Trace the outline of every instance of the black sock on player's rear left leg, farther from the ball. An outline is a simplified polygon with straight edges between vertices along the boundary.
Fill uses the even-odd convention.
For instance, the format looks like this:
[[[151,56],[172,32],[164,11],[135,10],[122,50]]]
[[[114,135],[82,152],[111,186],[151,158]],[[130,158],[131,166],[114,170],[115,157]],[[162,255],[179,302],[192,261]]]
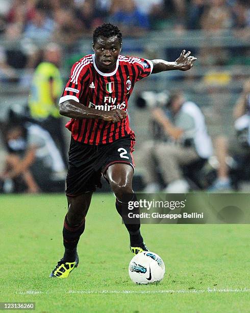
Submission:
[[[66,262],[74,262],[77,255],[77,244],[80,236],[85,229],[85,220],[79,225],[69,226],[67,221],[67,215],[64,219],[63,225],[63,245],[65,248],[65,253],[63,259]]]

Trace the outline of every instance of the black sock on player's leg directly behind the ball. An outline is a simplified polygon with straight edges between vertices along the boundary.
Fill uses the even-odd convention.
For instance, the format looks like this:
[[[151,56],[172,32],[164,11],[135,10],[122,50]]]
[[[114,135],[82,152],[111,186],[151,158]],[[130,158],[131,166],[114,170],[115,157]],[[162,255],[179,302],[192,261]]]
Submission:
[[[132,200],[135,200],[135,196],[133,196]],[[128,218],[128,214],[133,212],[135,214],[139,214],[139,208],[134,208],[133,210],[129,210],[129,204],[127,202],[121,202],[116,198],[115,207],[117,212],[120,214],[129,234],[130,234],[130,244],[132,247],[135,247],[137,244],[143,242],[143,238],[140,233],[140,218],[133,218],[133,224],[131,224],[131,220]]]

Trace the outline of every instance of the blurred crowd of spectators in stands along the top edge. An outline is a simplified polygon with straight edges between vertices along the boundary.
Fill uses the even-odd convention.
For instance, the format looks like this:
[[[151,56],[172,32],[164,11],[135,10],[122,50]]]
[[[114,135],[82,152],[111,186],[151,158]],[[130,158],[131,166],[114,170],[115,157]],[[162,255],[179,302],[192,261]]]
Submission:
[[[1,0],[0,34],[9,39],[57,40],[63,44],[90,36],[104,21],[126,36],[166,28],[247,29],[245,0]]]

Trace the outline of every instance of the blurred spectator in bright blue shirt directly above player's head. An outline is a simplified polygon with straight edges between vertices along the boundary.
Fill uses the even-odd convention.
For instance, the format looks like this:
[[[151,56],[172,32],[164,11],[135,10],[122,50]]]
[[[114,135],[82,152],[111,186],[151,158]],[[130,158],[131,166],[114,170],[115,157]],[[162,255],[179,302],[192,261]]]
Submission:
[[[116,24],[124,36],[140,36],[149,29],[148,16],[139,11],[134,0],[118,2],[110,21]]]

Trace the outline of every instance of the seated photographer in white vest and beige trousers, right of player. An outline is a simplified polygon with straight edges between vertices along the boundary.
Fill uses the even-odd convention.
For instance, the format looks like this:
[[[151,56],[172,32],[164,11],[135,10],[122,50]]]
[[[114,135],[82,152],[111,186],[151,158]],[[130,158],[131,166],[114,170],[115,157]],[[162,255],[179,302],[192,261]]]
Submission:
[[[166,108],[167,111],[160,107],[152,109],[152,117],[161,125],[167,141],[144,146],[144,155],[147,155],[144,158],[145,191],[158,191],[157,163],[167,185],[164,191],[184,193],[189,190],[189,185],[183,178],[182,167],[208,159],[212,154],[212,143],[202,111],[195,103],[186,101],[181,92],[170,95]]]

